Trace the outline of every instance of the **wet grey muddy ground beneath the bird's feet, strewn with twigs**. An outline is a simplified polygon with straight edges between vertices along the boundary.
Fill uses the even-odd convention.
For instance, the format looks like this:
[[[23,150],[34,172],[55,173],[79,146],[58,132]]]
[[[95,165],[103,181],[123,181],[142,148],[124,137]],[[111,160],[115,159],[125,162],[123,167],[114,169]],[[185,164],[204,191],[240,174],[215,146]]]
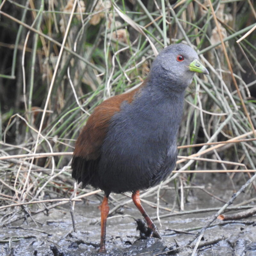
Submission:
[[[247,178],[247,177],[246,177]],[[236,174],[235,186],[238,190],[245,179],[241,174]],[[198,174],[194,181],[198,186],[204,186],[205,189],[221,200],[228,201],[234,193],[232,186],[226,174],[204,175]],[[172,185],[171,185],[172,186]],[[186,191],[186,189],[184,190]],[[164,201],[161,206],[172,208],[174,202],[174,190],[163,190]],[[115,200],[127,200],[127,196],[113,195]],[[239,205],[247,200],[249,203],[245,206],[255,206],[255,191],[250,188],[239,196],[233,205]],[[156,203],[156,195],[144,198],[145,200]],[[205,193],[200,188],[193,188],[187,197],[184,212],[202,210],[207,208],[221,207],[224,205],[215,197]],[[112,204],[112,203],[113,204]],[[141,218],[140,212],[130,203],[125,207],[118,209],[113,217],[107,221],[107,253],[98,254],[100,242],[100,196],[90,196],[83,202],[76,203],[75,219],[77,232],[73,232],[72,221],[69,212],[69,205],[51,209],[48,212],[39,213],[27,221],[19,220],[7,227],[0,228],[0,255],[9,256],[68,256],[68,255],[159,255],[167,250],[172,250],[169,255],[191,255],[193,249],[184,247],[199,228],[212,216],[217,210],[175,215],[161,218],[161,224],[154,220],[155,224],[163,237],[149,238],[141,240],[139,231],[136,230],[135,219]],[[110,209],[117,202],[110,199]],[[156,217],[156,209],[150,207],[145,202],[148,214]],[[241,210],[240,210],[241,211]],[[179,208],[175,207],[173,214],[179,213]],[[227,212],[237,213],[238,211]],[[170,212],[159,210],[159,215]],[[256,226],[255,216],[232,221],[215,220],[212,227],[208,228],[200,242],[197,255],[235,255],[233,247],[236,241],[244,242],[246,256],[256,255]],[[37,226],[36,226],[37,225]],[[10,239],[11,238],[11,239]],[[239,240],[240,239],[240,240]],[[8,242],[7,242],[8,240]],[[176,242],[175,242],[176,241]],[[195,244],[192,243],[192,247]],[[177,247],[181,249],[174,250]],[[161,255],[167,255],[163,253]]]

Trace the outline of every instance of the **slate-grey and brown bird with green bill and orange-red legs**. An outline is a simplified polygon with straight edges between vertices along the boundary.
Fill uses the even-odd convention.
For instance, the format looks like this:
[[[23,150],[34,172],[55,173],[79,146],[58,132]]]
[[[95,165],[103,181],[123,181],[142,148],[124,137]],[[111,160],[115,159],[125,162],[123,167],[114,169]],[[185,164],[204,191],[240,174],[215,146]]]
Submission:
[[[104,100],[80,132],[71,162],[72,177],[82,182],[82,188],[89,184],[104,191],[99,252],[106,252],[108,196],[112,192],[132,192],[152,236],[161,238],[140,203],[140,190],[156,186],[175,168],[184,94],[195,72],[209,75],[192,47],[165,47],[153,60],[144,82],[133,91]]]

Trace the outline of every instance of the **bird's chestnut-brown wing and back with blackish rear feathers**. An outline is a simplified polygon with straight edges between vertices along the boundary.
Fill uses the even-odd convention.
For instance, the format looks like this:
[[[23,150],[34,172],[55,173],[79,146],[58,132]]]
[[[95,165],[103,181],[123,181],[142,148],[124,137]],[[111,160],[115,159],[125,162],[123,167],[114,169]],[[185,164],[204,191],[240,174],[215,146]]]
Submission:
[[[112,116],[120,111],[122,102],[132,102],[134,95],[137,94],[143,84],[132,92],[116,95],[103,101],[88,118],[76,140],[71,163],[72,177],[78,183],[82,181],[83,187],[90,183],[97,172],[100,149],[107,135]]]

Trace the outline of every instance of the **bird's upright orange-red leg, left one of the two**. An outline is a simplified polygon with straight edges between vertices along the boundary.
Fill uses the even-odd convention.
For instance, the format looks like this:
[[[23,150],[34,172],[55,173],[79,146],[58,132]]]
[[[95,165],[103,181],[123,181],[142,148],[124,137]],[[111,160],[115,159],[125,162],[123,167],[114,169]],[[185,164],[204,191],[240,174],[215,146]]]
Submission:
[[[109,212],[108,206],[108,196],[104,196],[102,204],[100,206],[100,213],[101,213],[101,233],[100,233],[100,251],[99,252],[106,252],[106,223],[107,217]]]

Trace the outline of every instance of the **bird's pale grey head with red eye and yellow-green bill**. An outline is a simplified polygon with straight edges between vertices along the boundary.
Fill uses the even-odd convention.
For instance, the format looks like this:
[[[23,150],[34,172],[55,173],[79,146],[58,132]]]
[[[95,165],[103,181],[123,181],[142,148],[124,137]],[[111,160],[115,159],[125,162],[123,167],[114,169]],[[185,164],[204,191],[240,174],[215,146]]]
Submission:
[[[184,90],[192,82],[195,72],[209,75],[198,60],[196,51],[186,44],[172,44],[164,48],[151,68],[151,76],[159,81],[166,80],[177,91]]]

